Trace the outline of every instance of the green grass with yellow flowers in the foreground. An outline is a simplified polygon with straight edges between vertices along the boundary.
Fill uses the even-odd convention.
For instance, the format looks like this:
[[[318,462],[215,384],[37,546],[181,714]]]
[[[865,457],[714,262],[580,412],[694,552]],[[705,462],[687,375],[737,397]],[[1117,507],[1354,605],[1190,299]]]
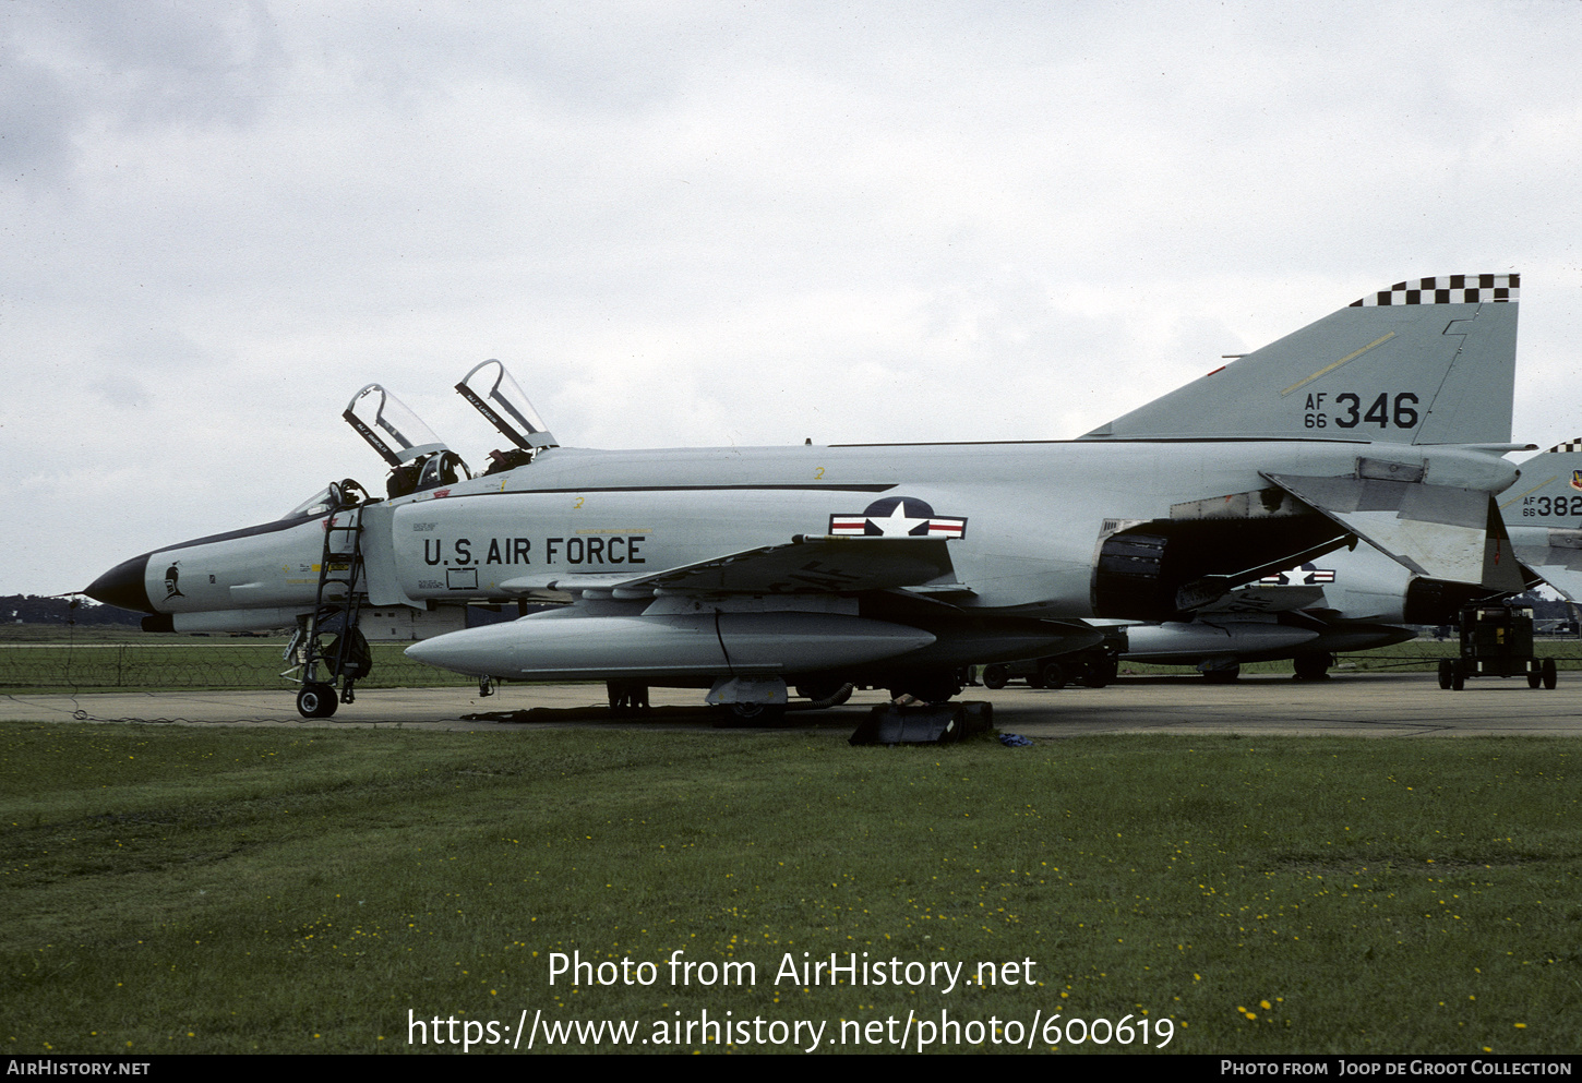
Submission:
[[[1185,1053],[1582,1045],[1576,740],[845,734],[3,723],[0,1045],[400,1051],[408,1010],[539,1009],[824,1048],[941,1010],[1145,1012]],[[677,949],[758,982],[672,987]],[[660,980],[551,985],[552,952]],[[802,952],[1039,985],[777,987]]]

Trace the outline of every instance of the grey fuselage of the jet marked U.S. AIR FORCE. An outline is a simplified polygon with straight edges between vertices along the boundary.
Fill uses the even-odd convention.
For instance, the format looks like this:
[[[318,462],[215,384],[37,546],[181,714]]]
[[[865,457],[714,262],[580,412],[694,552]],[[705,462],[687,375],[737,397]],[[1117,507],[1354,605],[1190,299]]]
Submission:
[[[948,539],[956,579],[970,591],[952,599],[962,609],[1153,620],[1120,612],[1123,599],[1106,606],[1095,571],[1104,538],[1128,523],[1179,522],[1188,504],[1213,520],[1212,503],[1201,501],[1269,490],[1269,474],[1354,477],[1359,462],[1489,492],[1516,477],[1487,451],[1364,441],[551,447],[527,466],[356,514],[372,604],[500,601],[525,587],[658,572],[799,534],[927,534]],[[226,615],[210,618],[215,628],[247,626],[245,613],[256,615],[253,626],[280,626],[282,613],[313,604],[324,519],[160,549],[117,566],[90,593],[169,613],[177,629],[204,626],[202,613]],[[1224,538],[1264,544],[1245,520]],[[1193,560],[1207,564],[1183,564],[1177,577],[1280,557],[1204,557],[1218,545],[1191,542]]]

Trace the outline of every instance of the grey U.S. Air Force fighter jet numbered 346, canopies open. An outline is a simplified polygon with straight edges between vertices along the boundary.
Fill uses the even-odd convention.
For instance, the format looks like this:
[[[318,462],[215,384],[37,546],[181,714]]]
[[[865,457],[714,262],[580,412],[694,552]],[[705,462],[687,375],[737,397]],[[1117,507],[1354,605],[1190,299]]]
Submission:
[[[1183,620],[1359,539],[1427,582],[1519,590],[1493,503],[1512,444],[1467,421],[1511,379],[1473,362],[1514,351],[1516,292],[1455,275],[1370,294],[1079,441],[560,447],[486,362],[457,387],[514,447],[470,477],[370,386],[348,414],[392,466],[386,498],[331,487],[87,593],[176,631],[297,625],[310,716],[365,669],[359,606],[511,599],[566,604],[408,655],[707,688],[750,716],[848,683],[948,700],[963,666],[1098,642],[1084,618]],[[1376,438],[1397,432],[1413,443]]]

